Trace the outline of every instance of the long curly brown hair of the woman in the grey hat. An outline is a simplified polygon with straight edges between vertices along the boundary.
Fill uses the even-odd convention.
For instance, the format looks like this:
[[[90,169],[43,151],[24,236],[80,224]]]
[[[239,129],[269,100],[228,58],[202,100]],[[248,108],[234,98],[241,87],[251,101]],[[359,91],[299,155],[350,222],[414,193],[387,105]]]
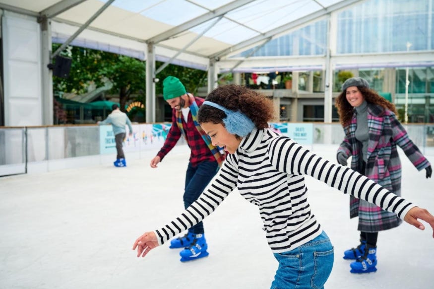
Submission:
[[[378,95],[375,90],[366,87],[357,86],[359,91],[362,93],[365,100],[369,103],[373,103],[381,106],[384,109],[388,109],[392,111],[394,114],[398,114],[396,112],[395,105],[387,101],[384,97]],[[338,109],[339,121],[342,126],[347,126],[351,122],[351,118],[353,117],[354,108],[347,100],[347,90],[341,92],[335,100],[335,106]]]

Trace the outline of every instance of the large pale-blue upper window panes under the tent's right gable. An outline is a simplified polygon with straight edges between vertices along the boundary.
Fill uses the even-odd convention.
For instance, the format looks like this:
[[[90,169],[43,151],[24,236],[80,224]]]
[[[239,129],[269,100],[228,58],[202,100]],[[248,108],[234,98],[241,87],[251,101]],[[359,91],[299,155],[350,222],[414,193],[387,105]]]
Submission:
[[[338,14],[337,54],[433,50],[434,0],[369,0]],[[324,55],[327,22],[271,40],[252,57]],[[254,48],[238,56],[248,56]]]

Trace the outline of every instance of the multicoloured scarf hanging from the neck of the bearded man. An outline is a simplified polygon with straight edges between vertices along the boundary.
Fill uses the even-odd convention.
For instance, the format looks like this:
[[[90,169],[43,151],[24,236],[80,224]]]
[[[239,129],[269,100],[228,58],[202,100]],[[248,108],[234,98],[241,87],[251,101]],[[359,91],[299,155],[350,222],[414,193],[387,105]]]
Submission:
[[[214,155],[219,166],[222,166],[222,162],[225,159],[225,157],[224,157],[225,152],[223,151],[223,149],[212,145],[211,139],[209,138],[209,136],[207,134],[205,134],[205,132],[202,130],[199,123],[197,122],[197,112],[199,110],[199,107],[197,106],[197,103],[194,100],[193,96],[188,94],[188,97],[190,98],[189,108],[190,108],[190,112],[191,112],[191,117],[193,118],[194,126],[196,127],[196,130],[199,132],[199,134],[202,137],[205,144],[208,146],[211,153]],[[187,139],[186,138],[186,132],[184,131],[184,128],[183,128],[183,120],[182,120],[183,113],[181,111],[178,111],[176,117],[177,117],[177,125],[178,125],[179,129],[181,130],[181,132],[183,133],[184,138]]]

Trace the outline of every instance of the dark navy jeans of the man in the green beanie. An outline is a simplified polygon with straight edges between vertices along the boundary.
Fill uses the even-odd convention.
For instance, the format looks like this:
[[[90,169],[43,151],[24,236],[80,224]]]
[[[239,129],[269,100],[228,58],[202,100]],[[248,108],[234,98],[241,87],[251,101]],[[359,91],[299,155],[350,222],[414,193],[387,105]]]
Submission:
[[[186,188],[184,191],[184,207],[188,208],[199,198],[208,183],[218,170],[217,161],[202,161],[197,166],[188,163],[186,172]],[[188,229],[193,234],[203,234],[203,223],[199,222]]]

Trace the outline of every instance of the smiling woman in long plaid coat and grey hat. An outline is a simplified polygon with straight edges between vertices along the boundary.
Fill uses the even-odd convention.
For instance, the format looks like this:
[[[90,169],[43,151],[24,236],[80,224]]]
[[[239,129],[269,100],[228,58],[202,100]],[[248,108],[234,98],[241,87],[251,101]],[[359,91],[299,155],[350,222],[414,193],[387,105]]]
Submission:
[[[345,139],[337,151],[337,160],[347,165],[352,156],[351,168],[384,188],[401,195],[401,161],[399,145],[413,165],[426,169],[431,177],[430,162],[410,140],[396,118],[395,106],[369,88],[363,78],[347,79],[342,93],[336,99],[339,120]],[[352,273],[376,271],[376,241],[378,231],[398,226],[402,221],[395,215],[364,200],[350,196],[350,217],[359,217],[360,245],[344,252],[351,263]]]

